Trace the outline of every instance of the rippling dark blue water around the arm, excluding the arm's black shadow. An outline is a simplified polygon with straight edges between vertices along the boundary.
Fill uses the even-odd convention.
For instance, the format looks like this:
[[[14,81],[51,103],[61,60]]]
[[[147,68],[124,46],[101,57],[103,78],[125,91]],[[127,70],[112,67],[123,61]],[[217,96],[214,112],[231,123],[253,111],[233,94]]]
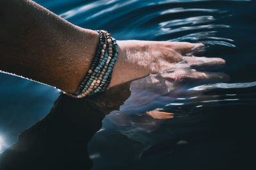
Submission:
[[[188,86],[164,96],[131,87],[131,97],[104,118],[90,141],[92,169],[255,169],[255,1],[36,3],[78,26],[108,30],[118,40],[202,42],[205,56],[227,61],[220,71],[230,75],[228,83]],[[44,118],[60,92],[3,73],[0,79],[1,152]],[[145,117],[156,108],[175,118]]]

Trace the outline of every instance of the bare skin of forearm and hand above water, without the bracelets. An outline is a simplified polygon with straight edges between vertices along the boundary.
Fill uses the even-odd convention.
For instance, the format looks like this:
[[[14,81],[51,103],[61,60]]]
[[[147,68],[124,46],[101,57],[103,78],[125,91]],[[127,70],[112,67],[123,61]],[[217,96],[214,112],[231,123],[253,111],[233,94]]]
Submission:
[[[0,1],[0,70],[62,91],[76,91],[95,54],[99,35],[29,0]],[[222,65],[223,59],[186,58],[204,45],[187,42],[118,41],[109,87],[175,68],[180,61]],[[186,60],[184,60],[186,59]],[[206,63],[206,64],[205,64]],[[189,75],[191,72],[184,72]],[[193,74],[191,74],[192,76]],[[174,75],[173,79],[180,79]],[[196,75],[197,79],[207,75]]]

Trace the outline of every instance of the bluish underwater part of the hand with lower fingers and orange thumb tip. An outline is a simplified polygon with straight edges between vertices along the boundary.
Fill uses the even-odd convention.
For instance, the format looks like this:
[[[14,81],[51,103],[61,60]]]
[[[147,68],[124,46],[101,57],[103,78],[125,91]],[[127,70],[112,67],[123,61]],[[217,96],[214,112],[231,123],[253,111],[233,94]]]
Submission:
[[[150,74],[133,81],[130,88],[131,97],[120,107],[119,115],[123,115],[123,118],[120,118],[129,122],[127,115],[141,112],[146,112],[154,119],[173,118],[173,114],[156,108],[169,104],[173,98],[186,97],[187,89],[191,86],[228,80],[225,73],[198,72],[193,68],[207,70],[224,64],[225,61],[220,58],[184,57],[172,70]]]

